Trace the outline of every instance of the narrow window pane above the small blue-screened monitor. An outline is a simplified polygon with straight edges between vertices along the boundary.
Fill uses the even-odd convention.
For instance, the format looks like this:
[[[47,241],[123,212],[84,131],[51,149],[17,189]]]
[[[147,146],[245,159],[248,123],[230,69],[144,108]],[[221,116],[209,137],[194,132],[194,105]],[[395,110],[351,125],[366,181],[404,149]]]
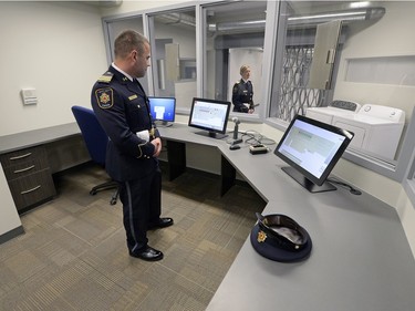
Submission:
[[[178,111],[189,111],[197,93],[195,9],[153,14],[148,21],[154,94],[174,96]]]

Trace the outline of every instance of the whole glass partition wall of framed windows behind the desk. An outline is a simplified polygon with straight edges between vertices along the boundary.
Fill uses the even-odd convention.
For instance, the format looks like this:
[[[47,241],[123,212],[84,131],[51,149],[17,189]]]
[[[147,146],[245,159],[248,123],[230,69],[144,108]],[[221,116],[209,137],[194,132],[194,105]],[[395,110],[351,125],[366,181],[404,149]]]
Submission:
[[[181,114],[194,96],[231,101],[242,64],[260,104],[253,115],[234,113],[242,120],[284,131],[294,115],[334,102],[401,110],[402,134],[377,143],[396,151],[385,157],[354,138],[344,156],[402,180],[415,147],[407,131],[415,127],[414,12],[412,1],[206,1],[103,22],[110,63],[122,30],[149,38],[152,68],[142,84],[149,95],[175,96]],[[370,132],[353,126],[362,143]]]

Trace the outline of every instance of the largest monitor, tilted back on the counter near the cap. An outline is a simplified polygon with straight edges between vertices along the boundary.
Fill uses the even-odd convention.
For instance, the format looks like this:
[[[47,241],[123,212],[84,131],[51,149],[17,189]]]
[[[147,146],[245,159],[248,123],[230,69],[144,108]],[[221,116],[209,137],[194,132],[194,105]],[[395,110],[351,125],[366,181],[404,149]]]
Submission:
[[[333,125],[297,115],[274,154],[290,165],[282,170],[309,191],[331,191],[336,188],[326,178],[353,135]]]

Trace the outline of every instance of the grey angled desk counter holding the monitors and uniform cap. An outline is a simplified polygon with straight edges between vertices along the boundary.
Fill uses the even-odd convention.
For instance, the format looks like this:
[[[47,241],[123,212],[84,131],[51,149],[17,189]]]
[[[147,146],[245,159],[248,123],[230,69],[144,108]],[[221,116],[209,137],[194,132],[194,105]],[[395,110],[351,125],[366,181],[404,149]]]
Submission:
[[[33,132],[37,137],[0,137],[0,152],[80,135],[76,124],[58,127],[55,134],[48,128]],[[234,185],[238,172],[267,201],[262,215],[287,215],[312,239],[309,258],[282,263],[257,253],[247,237],[207,310],[415,309],[415,260],[395,208],[342,187],[311,194],[281,170],[286,164],[272,151],[260,155],[251,155],[248,147],[230,151],[225,139],[197,135],[195,128],[181,124],[159,131],[166,141],[172,179],[186,169],[186,144],[217,148],[222,194]]]

